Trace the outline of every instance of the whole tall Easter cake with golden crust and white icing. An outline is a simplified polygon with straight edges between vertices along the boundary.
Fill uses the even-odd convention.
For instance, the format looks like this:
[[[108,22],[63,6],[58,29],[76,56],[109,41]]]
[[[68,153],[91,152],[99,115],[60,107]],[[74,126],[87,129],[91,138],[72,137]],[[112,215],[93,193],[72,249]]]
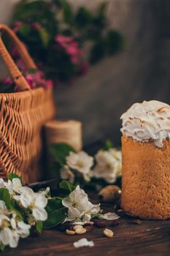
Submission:
[[[136,103],[121,119],[121,206],[142,219],[170,218],[170,106]]]

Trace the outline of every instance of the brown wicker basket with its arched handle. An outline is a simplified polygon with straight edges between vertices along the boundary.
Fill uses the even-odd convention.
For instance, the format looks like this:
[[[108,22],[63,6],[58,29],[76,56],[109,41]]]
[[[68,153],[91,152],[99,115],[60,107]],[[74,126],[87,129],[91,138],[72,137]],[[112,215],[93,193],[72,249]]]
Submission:
[[[0,31],[12,39],[28,69],[36,68],[15,33],[4,24],[0,24]],[[43,124],[55,116],[53,91],[51,88],[30,89],[1,36],[0,56],[20,91],[0,94],[0,177],[6,178],[7,173],[16,173],[27,184],[41,178],[41,130]]]

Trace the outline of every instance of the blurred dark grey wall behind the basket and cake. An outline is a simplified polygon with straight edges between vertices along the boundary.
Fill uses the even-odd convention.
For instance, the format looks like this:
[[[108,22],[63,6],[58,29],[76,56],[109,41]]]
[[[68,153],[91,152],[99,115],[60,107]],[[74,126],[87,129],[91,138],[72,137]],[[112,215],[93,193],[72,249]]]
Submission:
[[[17,2],[0,1],[1,23],[9,23]],[[101,1],[71,2],[95,10]],[[58,118],[82,121],[85,144],[110,139],[117,146],[120,115],[134,102],[170,103],[170,1],[110,0],[107,15],[110,26],[124,35],[125,50],[90,67],[71,85],[58,86],[55,100]]]

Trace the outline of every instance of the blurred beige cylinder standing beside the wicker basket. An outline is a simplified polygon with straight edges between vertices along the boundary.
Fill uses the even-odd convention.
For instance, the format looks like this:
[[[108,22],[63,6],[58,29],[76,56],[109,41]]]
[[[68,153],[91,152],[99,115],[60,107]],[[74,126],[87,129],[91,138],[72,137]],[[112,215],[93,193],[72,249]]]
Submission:
[[[82,123],[80,121],[49,121],[45,124],[47,146],[67,143],[77,151],[82,149]]]

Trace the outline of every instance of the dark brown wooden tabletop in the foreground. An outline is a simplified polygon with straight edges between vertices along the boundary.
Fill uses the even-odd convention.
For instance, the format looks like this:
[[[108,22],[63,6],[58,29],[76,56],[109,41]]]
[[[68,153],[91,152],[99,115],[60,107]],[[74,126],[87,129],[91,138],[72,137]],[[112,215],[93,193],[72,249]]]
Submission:
[[[95,227],[84,235],[74,236],[58,230],[44,230],[41,236],[23,239],[18,248],[8,249],[1,255],[170,255],[170,220],[142,220],[136,225],[133,218],[122,217],[120,225],[112,227],[113,238],[105,237],[103,230]],[[88,238],[94,246],[74,248],[74,241],[80,238]]]

